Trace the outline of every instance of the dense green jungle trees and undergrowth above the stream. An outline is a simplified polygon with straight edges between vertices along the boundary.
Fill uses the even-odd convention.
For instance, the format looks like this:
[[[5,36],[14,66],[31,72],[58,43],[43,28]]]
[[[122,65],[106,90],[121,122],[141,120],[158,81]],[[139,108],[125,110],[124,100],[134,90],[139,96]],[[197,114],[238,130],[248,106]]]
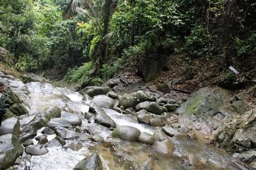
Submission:
[[[99,85],[152,53],[218,60],[218,79],[235,81],[228,66],[254,68],[255,16],[253,0],[2,0],[0,46],[16,68],[69,83]]]

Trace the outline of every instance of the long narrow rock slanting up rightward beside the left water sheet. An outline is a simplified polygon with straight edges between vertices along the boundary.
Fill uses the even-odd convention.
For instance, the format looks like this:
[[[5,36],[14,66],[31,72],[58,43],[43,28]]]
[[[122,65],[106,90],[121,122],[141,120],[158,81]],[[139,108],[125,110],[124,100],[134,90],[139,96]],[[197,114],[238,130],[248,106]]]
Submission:
[[[61,110],[58,107],[50,108],[43,111],[41,114],[36,115],[29,123],[29,126],[32,126],[32,128],[35,130],[38,130],[46,126],[51,118],[60,117],[60,115]]]

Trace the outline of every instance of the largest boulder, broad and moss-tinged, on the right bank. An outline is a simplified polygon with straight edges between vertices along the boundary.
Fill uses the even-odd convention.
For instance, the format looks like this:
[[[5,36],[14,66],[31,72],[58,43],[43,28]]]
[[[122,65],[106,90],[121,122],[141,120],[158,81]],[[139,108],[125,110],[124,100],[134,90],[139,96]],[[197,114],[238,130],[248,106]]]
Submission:
[[[227,97],[221,89],[199,89],[175,111],[179,115],[179,123],[192,126],[206,135],[216,133],[215,130],[234,115],[223,109]]]

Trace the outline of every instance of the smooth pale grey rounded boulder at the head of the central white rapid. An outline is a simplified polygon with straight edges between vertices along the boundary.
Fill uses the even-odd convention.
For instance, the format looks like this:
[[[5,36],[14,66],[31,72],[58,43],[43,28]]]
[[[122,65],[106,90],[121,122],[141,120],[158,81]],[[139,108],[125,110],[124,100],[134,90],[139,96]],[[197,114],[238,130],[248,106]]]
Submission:
[[[107,97],[106,95],[98,95],[93,97],[93,100],[90,102],[90,104],[92,103],[102,108],[113,108],[114,103],[116,103],[116,100],[114,100],[113,98]]]

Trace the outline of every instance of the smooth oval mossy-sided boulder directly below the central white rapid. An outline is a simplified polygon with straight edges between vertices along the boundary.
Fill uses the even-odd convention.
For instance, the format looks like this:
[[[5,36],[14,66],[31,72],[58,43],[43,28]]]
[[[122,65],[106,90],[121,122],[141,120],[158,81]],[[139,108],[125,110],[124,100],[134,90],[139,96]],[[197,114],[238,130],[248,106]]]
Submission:
[[[120,138],[123,140],[137,141],[140,131],[131,126],[118,126],[112,132],[112,137]]]

